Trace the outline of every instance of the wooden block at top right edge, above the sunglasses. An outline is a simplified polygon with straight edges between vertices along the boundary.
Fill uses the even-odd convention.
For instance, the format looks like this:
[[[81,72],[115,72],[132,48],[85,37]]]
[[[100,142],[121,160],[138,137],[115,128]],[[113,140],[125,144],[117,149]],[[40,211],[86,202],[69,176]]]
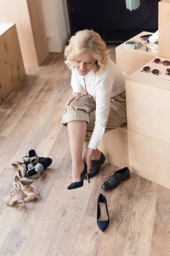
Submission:
[[[170,0],[159,2],[159,56],[170,58]]]

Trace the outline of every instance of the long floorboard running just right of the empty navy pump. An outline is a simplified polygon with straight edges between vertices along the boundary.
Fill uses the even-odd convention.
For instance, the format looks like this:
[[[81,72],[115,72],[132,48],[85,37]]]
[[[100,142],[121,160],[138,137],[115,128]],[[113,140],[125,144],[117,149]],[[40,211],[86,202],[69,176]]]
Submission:
[[[126,246],[126,238],[136,204],[136,187],[139,176],[131,174],[130,180],[119,185],[111,193],[109,205],[110,224],[107,232],[103,233],[99,244],[98,256],[122,256]],[[129,254],[131,255],[131,254]],[[136,254],[137,255],[137,254]]]

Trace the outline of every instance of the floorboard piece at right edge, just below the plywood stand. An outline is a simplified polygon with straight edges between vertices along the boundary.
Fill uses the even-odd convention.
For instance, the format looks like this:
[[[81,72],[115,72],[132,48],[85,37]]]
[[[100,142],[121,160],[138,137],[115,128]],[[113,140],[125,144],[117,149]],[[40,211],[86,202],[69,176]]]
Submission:
[[[154,224],[170,225],[170,189],[158,185]]]

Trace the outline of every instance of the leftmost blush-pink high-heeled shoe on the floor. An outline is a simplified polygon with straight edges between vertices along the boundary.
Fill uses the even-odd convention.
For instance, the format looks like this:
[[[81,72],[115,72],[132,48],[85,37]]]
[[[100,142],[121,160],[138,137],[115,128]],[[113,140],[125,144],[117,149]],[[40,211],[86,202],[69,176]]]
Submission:
[[[15,204],[15,202],[17,201],[22,201],[24,207],[26,206],[25,202],[24,202],[24,192],[21,189],[21,186],[19,183],[15,183],[15,189],[13,191],[10,192],[9,195],[6,195],[3,200],[6,202],[6,204],[8,204],[9,206],[13,206]]]

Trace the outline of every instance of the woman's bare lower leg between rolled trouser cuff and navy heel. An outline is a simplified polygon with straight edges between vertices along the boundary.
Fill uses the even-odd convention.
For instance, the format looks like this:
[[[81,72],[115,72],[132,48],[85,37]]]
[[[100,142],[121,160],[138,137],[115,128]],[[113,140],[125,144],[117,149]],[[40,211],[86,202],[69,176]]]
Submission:
[[[82,147],[85,139],[87,122],[71,121],[68,122],[67,125],[72,158],[72,178],[73,182],[80,181],[84,169]]]

